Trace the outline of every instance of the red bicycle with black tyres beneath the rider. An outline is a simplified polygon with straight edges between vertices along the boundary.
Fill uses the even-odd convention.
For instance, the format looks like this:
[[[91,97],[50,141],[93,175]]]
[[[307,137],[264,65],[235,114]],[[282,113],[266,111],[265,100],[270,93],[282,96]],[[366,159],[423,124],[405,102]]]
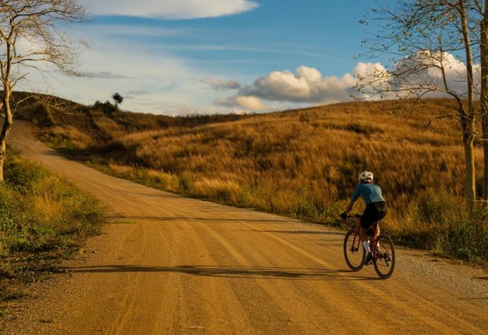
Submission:
[[[363,269],[365,260],[365,251],[361,243],[359,229],[361,228],[361,215],[348,215],[344,218],[357,219],[357,225],[349,230],[344,237],[344,257],[347,266],[352,271]],[[381,233],[377,236],[377,225],[368,229],[368,241],[370,242],[371,252],[373,255],[372,263],[374,271],[381,279],[390,278],[393,269],[395,269],[395,246],[390,236]]]

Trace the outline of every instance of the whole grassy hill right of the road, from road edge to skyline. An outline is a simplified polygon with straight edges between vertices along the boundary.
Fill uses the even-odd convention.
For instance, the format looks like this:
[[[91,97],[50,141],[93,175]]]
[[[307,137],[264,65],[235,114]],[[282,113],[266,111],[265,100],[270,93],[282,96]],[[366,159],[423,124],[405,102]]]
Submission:
[[[397,115],[404,107],[395,101],[350,102],[190,118],[88,108],[76,116],[80,123],[75,116],[52,117],[39,136],[117,176],[329,224],[338,224],[359,172],[371,170],[390,202],[384,223],[389,232],[410,245],[447,250],[453,231],[460,233],[455,227],[469,221],[460,214],[460,129],[457,120],[444,118],[455,105],[423,100],[408,118]],[[480,172],[480,149],[476,155]]]

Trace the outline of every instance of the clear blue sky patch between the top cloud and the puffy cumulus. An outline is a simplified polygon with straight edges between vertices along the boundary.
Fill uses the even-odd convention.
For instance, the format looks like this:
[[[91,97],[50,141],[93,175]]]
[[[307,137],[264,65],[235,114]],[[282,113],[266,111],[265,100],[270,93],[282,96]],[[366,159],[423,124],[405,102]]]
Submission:
[[[255,10],[212,19],[112,16],[97,17],[96,23],[174,30],[173,36],[114,33],[114,38],[185,57],[195,64],[208,63],[209,71],[237,68],[238,73],[262,74],[275,70],[273,66],[295,69],[306,63],[331,75],[343,75],[354,66],[365,37],[358,21],[368,11],[368,2],[308,0],[297,6],[296,0],[266,0]]]

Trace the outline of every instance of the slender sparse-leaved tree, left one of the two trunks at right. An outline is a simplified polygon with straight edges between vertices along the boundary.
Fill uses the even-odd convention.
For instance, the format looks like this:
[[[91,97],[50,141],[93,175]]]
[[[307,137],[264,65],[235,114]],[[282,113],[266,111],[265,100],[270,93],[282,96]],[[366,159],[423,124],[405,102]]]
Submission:
[[[359,78],[357,88],[368,97],[420,98],[445,96],[455,100],[462,129],[466,163],[465,196],[471,210],[476,200],[473,142],[476,130],[476,71],[469,0],[400,0],[395,8],[379,6],[371,19],[379,32],[365,41],[367,54],[389,54],[393,65]],[[478,22],[479,23],[479,22]]]

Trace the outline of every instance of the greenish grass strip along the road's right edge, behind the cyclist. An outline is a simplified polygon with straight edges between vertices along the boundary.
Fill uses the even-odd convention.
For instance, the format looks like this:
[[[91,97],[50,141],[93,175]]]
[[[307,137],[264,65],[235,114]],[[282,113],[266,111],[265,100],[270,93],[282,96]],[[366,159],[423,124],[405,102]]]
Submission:
[[[85,163],[100,172],[185,197],[253,208],[336,228],[350,228],[338,219],[338,214],[344,208],[342,201],[320,206],[302,194],[272,188],[253,189],[218,179],[201,179],[188,172],[177,176],[114,163]],[[472,215],[467,215],[459,198],[445,190],[426,192],[408,217],[381,221],[381,229],[390,234],[397,244],[431,250],[458,260],[482,263],[488,260],[488,212],[478,208]]]

